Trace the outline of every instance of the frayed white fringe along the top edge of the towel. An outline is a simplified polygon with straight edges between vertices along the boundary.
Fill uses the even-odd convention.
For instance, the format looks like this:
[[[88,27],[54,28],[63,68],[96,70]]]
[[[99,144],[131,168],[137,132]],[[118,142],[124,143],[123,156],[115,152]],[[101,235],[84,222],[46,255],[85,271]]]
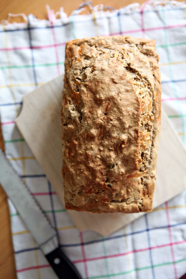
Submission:
[[[86,14],[81,14],[86,8],[88,7],[89,12]],[[146,2],[144,2],[143,4],[139,4],[139,3],[133,3],[130,4],[128,6],[122,7],[120,9],[115,9],[114,7],[111,6],[104,6],[103,4],[99,4],[94,6],[92,4],[92,1],[86,1],[82,4],[80,4],[80,6],[72,11],[71,15],[68,17],[67,14],[64,12],[63,7],[60,8],[60,11],[57,11],[56,13],[54,13],[54,10],[50,8],[49,5],[46,5],[46,11],[47,11],[47,17],[48,19],[37,19],[33,14],[29,14],[28,16],[26,16],[24,13],[19,13],[19,14],[12,14],[9,13],[8,14],[8,18],[7,19],[3,19],[0,22],[0,25],[8,25],[8,26],[13,26],[13,27],[25,27],[29,23],[52,23],[52,24],[59,24],[59,23],[63,23],[63,24],[67,24],[69,23],[70,19],[73,17],[73,20],[87,20],[89,18],[95,18],[95,16],[97,18],[102,17],[102,16],[107,16],[107,17],[111,17],[115,14],[118,14],[118,12],[122,13],[122,14],[130,14],[130,13],[134,13],[134,12],[143,12],[143,11],[153,11],[153,10],[158,10],[158,9],[162,9],[162,7],[166,7],[166,9],[173,9],[173,8],[186,8],[186,3],[185,1],[180,2],[180,1],[176,1],[176,0],[148,0]],[[17,22],[13,22],[13,23],[9,23],[9,20],[14,17],[22,17],[23,21],[22,23],[17,23]]]

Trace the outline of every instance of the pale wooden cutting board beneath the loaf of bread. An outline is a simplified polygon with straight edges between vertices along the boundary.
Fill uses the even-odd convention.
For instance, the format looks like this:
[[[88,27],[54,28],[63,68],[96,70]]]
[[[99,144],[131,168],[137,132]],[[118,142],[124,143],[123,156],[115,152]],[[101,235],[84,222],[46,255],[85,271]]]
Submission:
[[[35,89],[23,97],[23,108],[16,124],[44,173],[64,203],[61,175],[61,119],[64,75]],[[162,110],[161,140],[153,207],[178,195],[186,188],[186,151]],[[144,213],[91,214],[68,210],[80,231],[93,230],[107,236]]]

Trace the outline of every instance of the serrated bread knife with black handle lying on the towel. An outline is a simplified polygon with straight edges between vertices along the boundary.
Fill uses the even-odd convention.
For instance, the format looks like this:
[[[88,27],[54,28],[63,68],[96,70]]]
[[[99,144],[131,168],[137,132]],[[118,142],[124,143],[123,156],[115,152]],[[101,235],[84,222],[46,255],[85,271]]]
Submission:
[[[58,278],[82,279],[78,270],[60,249],[57,232],[51,227],[36,200],[15,173],[1,149],[0,183]]]

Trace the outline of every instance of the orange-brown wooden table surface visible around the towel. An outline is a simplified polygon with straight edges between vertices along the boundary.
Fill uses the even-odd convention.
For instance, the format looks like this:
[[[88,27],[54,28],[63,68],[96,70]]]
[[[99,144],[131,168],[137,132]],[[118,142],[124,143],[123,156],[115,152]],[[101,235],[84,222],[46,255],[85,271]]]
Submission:
[[[109,5],[115,9],[129,5],[131,3],[143,3],[144,0],[92,0],[93,5],[98,5],[100,3],[104,5]],[[7,19],[8,13],[24,13],[28,15],[33,13],[37,18],[44,19],[46,18],[46,9],[45,4],[50,5],[51,9],[54,11],[59,11],[60,7],[64,7],[64,11],[67,15],[78,8],[80,4],[83,3],[83,0],[2,0],[0,8],[0,21],[2,19]],[[14,20],[10,20],[13,22]],[[21,21],[21,18],[16,20],[17,22]],[[0,42],[1,43],[1,42]],[[0,148],[3,149],[3,139],[0,131]],[[9,218],[9,209],[7,205],[7,197],[5,192],[0,186],[0,278],[1,279],[15,279],[15,262],[13,254],[13,246],[11,240],[11,230],[10,230],[10,218]],[[27,278],[26,278],[27,279]],[[28,278],[29,279],[29,278]]]

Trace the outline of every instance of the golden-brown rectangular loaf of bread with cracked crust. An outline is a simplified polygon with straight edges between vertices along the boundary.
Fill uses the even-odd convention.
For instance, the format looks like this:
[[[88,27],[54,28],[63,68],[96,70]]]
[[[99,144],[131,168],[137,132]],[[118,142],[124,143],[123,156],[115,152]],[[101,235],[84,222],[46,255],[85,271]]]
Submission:
[[[161,120],[158,61],[155,40],[118,35],[66,43],[66,209],[152,210]]]

